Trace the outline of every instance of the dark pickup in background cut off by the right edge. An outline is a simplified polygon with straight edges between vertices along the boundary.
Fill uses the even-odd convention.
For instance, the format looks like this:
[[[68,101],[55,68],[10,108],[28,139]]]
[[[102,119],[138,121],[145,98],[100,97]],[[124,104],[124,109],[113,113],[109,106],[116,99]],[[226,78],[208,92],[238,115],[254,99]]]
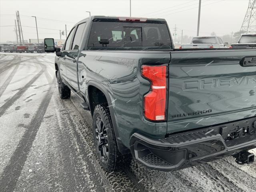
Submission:
[[[243,34],[237,43],[230,45],[230,48],[256,48],[256,34]]]

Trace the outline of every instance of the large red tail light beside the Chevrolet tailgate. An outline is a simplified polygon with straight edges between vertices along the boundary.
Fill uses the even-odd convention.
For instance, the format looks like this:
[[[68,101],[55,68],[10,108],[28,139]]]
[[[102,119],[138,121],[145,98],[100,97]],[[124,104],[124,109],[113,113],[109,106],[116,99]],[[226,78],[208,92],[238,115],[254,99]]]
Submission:
[[[167,66],[142,66],[142,76],[151,81],[144,96],[144,116],[153,121],[166,120]]]

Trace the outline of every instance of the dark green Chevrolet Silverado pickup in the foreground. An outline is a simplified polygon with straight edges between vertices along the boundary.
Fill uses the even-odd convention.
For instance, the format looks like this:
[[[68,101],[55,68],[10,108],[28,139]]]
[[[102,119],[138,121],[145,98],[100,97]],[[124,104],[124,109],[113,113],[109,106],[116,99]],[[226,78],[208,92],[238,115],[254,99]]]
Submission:
[[[225,156],[254,161],[256,51],[174,49],[164,19],[91,16],[56,52],[60,98],[90,110],[96,152],[113,171],[130,154],[157,170]]]

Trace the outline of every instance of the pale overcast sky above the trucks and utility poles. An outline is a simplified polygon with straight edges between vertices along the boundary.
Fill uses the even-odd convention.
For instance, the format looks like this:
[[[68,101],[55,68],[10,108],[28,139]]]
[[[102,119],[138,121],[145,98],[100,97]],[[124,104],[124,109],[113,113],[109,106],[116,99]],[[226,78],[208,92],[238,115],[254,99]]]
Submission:
[[[132,16],[165,18],[177,34],[195,36],[199,0],[132,0]],[[202,0],[200,35],[230,34],[240,30],[248,0]],[[19,10],[24,39],[36,38],[35,19],[39,38],[59,39],[58,30],[72,26],[92,15],[129,16],[129,0],[0,0],[0,42],[15,40],[15,11]],[[60,21],[56,21],[60,20]],[[42,29],[48,28],[48,29]],[[50,30],[53,29],[53,30]],[[62,36],[65,38],[65,36]]]

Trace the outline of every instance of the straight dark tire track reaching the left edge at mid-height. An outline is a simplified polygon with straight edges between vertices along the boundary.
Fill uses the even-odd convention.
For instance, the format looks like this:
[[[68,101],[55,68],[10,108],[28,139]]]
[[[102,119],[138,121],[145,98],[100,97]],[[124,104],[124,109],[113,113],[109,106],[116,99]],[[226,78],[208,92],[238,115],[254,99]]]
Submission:
[[[19,91],[12,97],[10,100],[6,101],[1,107],[0,107],[0,116],[4,114],[4,112],[14,104],[16,100],[18,100],[26,90],[42,75],[43,70],[41,70],[36,76],[34,76],[25,86],[19,89]]]

